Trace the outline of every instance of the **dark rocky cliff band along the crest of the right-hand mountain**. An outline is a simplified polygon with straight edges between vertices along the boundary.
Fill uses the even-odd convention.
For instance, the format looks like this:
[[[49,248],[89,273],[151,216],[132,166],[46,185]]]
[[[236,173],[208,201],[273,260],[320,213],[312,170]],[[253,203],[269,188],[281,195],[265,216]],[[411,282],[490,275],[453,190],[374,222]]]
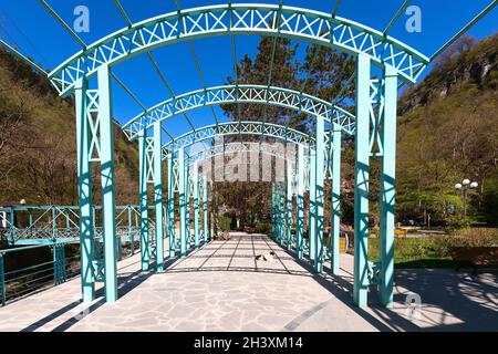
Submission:
[[[398,115],[424,106],[436,97],[445,97],[471,83],[479,88],[497,88],[498,34],[485,39],[433,70],[421,84],[409,88],[398,102]]]

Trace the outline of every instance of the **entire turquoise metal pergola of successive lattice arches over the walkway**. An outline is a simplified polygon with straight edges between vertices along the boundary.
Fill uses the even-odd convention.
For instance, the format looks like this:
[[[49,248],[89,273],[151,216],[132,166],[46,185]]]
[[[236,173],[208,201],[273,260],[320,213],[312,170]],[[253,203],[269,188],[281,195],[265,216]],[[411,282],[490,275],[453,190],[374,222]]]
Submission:
[[[325,257],[331,261],[331,271],[339,272],[339,232],[341,204],[341,142],[343,135],[354,137],[355,186],[354,186],[354,291],[353,302],[367,305],[369,287],[380,289],[383,306],[393,304],[394,272],[394,208],[395,208],[395,153],[396,153],[396,102],[398,87],[414,84],[427,64],[474,23],[488,13],[497,1],[492,1],[473,21],[464,27],[434,55],[427,58],[401,41],[388,35],[395,21],[406,9],[405,0],[384,31],[336,15],[340,1],[335,1],[331,13],[282,4],[227,4],[181,9],[138,23],[132,23],[118,0],[114,0],[127,27],[91,45],[61,19],[45,0],[39,0],[54,19],[81,44],[82,50],[45,73],[33,62],[30,65],[48,75],[61,96],[74,95],[76,107],[77,178],[79,178],[79,230],[81,244],[81,281],[83,301],[95,296],[97,272],[103,273],[106,301],[116,301],[116,207],[114,174],[114,136],[112,82],[117,82],[142,107],[143,113],[132,117],[122,126],[128,139],[137,140],[139,147],[139,214],[142,269],[148,270],[155,262],[156,271],[164,271],[165,246],[169,238],[169,258],[187,257],[190,248],[198,248],[211,239],[208,223],[208,200],[211,179],[203,162],[216,156],[256,150],[250,142],[208,146],[190,155],[188,147],[220,136],[263,136],[291,143],[295,148],[284,154],[261,152],[284,162],[286,181],[272,186],[272,237],[289,250],[295,249],[298,259],[307,258],[314,271],[324,271]],[[273,37],[273,56],[277,38],[286,37],[349,53],[355,58],[356,71],[354,114],[334,102],[325,102],[301,91],[268,85],[239,84],[207,87],[191,41],[215,35],[230,35],[234,61],[235,35],[252,34]],[[159,46],[187,42],[197,64],[203,87],[175,95],[151,51]],[[146,54],[155,71],[167,86],[170,97],[153,107],[145,107],[138,98],[113,73],[113,67],[139,54]],[[234,63],[236,66],[236,62]],[[235,71],[237,77],[237,70]],[[308,80],[308,77],[307,77]],[[92,82],[92,87],[90,83]],[[304,85],[303,85],[304,86]],[[220,104],[276,105],[305,113],[315,119],[314,134],[294,131],[284,125],[268,122],[239,121],[219,123],[214,105]],[[195,127],[187,112],[210,106],[216,124]],[[168,121],[183,115],[191,131],[173,137],[167,132]],[[169,136],[164,142],[163,136]],[[252,145],[251,145],[252,144]],[[370,262],[369,250],[369,183],[370,160],[381,162],[381,210],[380,210],[380,261]],[[167,185],[164,184],[163,162],[166,160]],[[102,215],[104,252],[102,269],[95,269],[95,226],[92,197],[92,164],[101,165]],[[324,192],[325,179],[331,180],[330,195]],[[148,186],[154,186],[154,230],[148,222]],[[309,194],[309,204],[304,195]],[[177,197],[177,198],[176,198]],[[295,198],[295,236],[292,236],[293,198]],[[331,244],[323,243],[324,201],[331,200]],[[166,206],[164,206],[166,200]],[[176,205],[178,200],[178,205]],[[190,205],[194,206],[194,235],[190,235]],[[166,211],[164,211],[166,210]],[[308,210],[308,243],[304,241],[305,210]],[[179,216],[179,235],[175,219]],[[151,233],[155,242],[151,242]]]

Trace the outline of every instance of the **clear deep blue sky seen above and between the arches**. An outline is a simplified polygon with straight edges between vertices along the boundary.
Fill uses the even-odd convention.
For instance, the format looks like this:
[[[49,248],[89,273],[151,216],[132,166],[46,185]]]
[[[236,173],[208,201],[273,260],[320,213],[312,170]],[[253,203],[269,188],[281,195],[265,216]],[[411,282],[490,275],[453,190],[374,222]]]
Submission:
[[[84,4],[89,8],[90,32],[80,33],[87,44],[125,27],[125,21],[112,0],[48,0],[48,2],[70,25],[75,19],[73,10],[76,6]],[[133,22],[176,10],[174,0],[121,0],[121,2]],[[226,2],[227,0],[180,1],[183,8]],[[234,3],[238,2],[278,3],[278,0],[234,0]],[[411,4],[418,6],[422,10],[422,32],[408,33],[405,30],[407,17],[402,15],[390,35],[429,56],[490,2],[491,0],[413,0]],[[343,0],[338,15],[383,31],[402,3],[403,0]],[[335,0],[283,0],[283,4],[330,12]],[[478,39],[488,37],[497,32],[497,23],[498,9],[495,8],[469,31],[469,34]],[[4,41],[46,69],[55,67],[80,50],[79,44],[37,0],[0,0],[0,37]],[[238,58],[245,53],[253,56],[259,37],[240,35],[236,37],[236,42]],[[226,77],[232,74],[230,38],[200,39],[193,43],[207,86],[224,84]],[[307,45],[305,42],[299,42],[298,60],[302,58]],[[152,54],[177,95],[201,88],[187,43],[160,48]],[[145,106],[152,106],[169,97],[145,55],[124,62],[113,70]],[[139,113],[141,107],[117,84],[113,87],[115,87],[114,115],[124,123]],[[216,112],[220,121],[224,121],[222,112],[218,107]],[[214,123],[209,108],[193,111],[188,116],[197,126]],[[166,127],[173,135],[189,129],[183,116],[175,117]]]

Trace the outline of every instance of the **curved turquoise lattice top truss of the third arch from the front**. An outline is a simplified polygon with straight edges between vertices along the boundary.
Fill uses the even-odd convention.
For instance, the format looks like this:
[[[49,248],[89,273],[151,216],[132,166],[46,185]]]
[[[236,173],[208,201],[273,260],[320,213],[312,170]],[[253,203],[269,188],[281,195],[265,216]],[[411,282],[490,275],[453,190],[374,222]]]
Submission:
[[[163,159],[167,158],[169,152],[177,152],[181,147],[187,147],[215,137],[229,135],[260,135],[274,137],[288,143],[311,145],[314,138],[299,131],[264,122],[227,122],[214,124],[188,132],[178,138],[163,145]]]

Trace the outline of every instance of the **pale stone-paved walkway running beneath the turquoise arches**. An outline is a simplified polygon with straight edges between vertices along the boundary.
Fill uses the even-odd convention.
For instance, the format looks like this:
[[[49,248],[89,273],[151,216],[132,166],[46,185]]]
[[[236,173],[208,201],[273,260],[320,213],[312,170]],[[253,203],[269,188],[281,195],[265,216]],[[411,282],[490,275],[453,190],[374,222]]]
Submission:
[[[270,261],[259,254],[274,252]],[[315,275],[271,239],[232,235],[164,273],[141,272],[135,254],[118,263],[120,300],[80,303],[79,279],[0,308],[0,331],[445,331],[498,330],[496,274],[396,271],[395,305],[352,305],[352,257],[341,274]],[[422,305],[411,315],[406,295]]]

